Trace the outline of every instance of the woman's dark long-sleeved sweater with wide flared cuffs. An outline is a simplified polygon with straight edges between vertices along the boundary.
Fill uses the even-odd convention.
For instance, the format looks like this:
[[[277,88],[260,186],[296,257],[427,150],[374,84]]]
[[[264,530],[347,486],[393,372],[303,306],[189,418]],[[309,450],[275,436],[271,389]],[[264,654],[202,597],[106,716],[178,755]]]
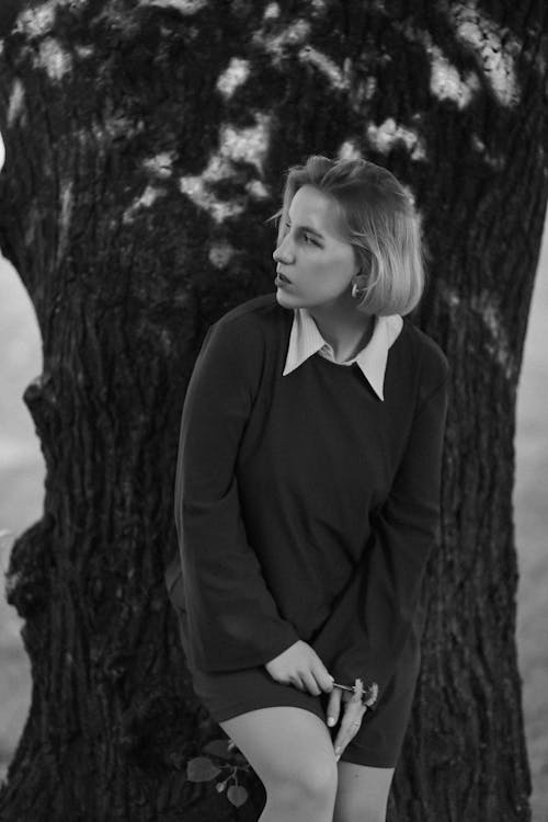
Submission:
[[[336,682],[383,692],[424,615],[448,363],[403,318],[383,402],[356,364],[319,354],[283,376],[292,322],[269,294],[207,331],[181,419],[180,557],[165,582],[190,669],[261,665],[302,639]]]

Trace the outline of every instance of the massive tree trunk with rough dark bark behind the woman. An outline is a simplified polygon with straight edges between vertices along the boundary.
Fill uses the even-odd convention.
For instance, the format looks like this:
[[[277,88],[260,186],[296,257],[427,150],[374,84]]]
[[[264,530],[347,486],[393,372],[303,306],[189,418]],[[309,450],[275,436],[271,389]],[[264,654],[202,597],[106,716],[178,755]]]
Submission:
[[[431,276],[413,320],[453,368],[390,819],[528,820],[512,488],[548,193],[546,5],[8,0],[1,23],[0,246],[42,332],[24,400],[47,465],[8,573],[33,694],[1,819],[259,815],[262,786],[220,743],[210,781],[187,778],[224,734],[190,687],[163,583],[179,418],[207,326],[273,290],[282,173],[355,152],[415,195]],[[238,766],[236,810],[244,795],[214,783]]]

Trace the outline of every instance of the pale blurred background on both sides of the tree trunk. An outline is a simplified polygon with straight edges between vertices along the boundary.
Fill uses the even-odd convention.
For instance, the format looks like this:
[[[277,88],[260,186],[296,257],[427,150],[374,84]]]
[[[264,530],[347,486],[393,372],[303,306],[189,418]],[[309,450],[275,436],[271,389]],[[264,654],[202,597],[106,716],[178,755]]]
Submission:
[[[1,163],[0,163],[1,165]],[[517,407],[514,520],[520,562],[520,667],[534,822],[548,822],[548,237],[529,316]],[[0,258],[0,779],[22,732],[31,672],[22,620],[5,602],[4,574],[13,540],[41,517],[44,461],[22,395],[42,370],[34,309],[13,267]],[[486,820],[486,822],[488,822]],[[489,821],[491,822],[491,821]]]

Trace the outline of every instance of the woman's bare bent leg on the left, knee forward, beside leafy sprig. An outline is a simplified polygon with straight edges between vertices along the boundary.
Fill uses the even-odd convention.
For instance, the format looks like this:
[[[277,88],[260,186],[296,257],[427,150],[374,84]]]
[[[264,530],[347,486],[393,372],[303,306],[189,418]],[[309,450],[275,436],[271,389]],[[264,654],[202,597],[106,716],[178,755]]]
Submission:
[[[219,724],[265,787],[260,822],[332,822],[338,768],[330,732],[316,713],[260,708]]]

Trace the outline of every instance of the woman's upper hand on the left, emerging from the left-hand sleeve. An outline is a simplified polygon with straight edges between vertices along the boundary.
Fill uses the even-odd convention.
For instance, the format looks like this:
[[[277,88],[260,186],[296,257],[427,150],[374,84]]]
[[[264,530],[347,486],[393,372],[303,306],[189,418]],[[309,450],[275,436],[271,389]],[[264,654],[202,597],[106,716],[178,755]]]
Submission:
[[[264,667],[276,682],[294,685],[313,696],[333,690],[333,677],[313,648],[301,639],[266,662]]]

